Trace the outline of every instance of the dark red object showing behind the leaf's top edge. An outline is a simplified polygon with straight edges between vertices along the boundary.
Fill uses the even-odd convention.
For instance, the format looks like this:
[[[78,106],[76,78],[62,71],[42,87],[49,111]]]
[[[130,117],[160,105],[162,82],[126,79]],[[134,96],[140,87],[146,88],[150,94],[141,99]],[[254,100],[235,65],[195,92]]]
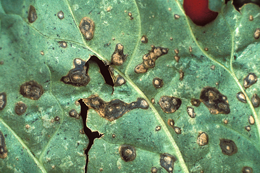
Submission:
[[[208,9],[208,0],[184,0],[183,8],[186,15],[198,26],[210,23],[219,14]]]

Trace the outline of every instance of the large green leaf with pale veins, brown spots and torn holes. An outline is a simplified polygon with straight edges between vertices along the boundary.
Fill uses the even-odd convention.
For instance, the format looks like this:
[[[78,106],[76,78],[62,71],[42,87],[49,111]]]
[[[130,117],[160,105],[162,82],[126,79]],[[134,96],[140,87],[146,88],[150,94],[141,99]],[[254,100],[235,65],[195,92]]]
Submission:
[[[254,37],[260,28],[259,7],[247,4],[240,13],[231,2],[219,1],[215,8],[210,3],[210,9],[218,9],[219,15],[210,24],[199,27],[185,15],[182,3],[181,0],[1,1],[0,93],[6,93],[7,101],[0,110],[0,131],[8,155],[0,158],[0,170],[84,172],[84,152],[89,140],[80,133],[82,118],[69,116],[73,109],[80,113],[80,99],[88,106],[87,127],[104,134],[94,140],[88,152],[87,172],[151,172],[155,170],[152,167],[158,172],[185,173],[242,172],[245,167],[259,170],[260,115],[251,97],[260,94],[260,84],[243,87],[249,73],[259,76],[260,39]],[[35,7],[37,18],[30,13],[30,6]],[[57,16],[61,10],[63,19]],[[30,22],[28,15],[33,15]],[[253,20],[249,20],[250,15]],[[83,17],[94,22],[90,40],[80,32]],[[143,35],[148,38],[147,44],[141,42]],[[64,43],[61,41],[67,46],[60,45]],[[78,68],[77,58],[83,62],[94,55],[110,62],[116,44],[122,44],[128,56],[122,66],[111,67],[114,76],[124,77],[125,84],[113,90],[93,61],[88,61],[88,84],[77,87],[61,81],[70,70]],[[149,54],[151,45],[167,48],[168,53],[156,56],[154,68],[136,73],[135,67]],[[184,76],[180,78],[182,72]],[[154,87],[155,77],[162,79],[163,85]],[[34,90],[43,94],[38,99],[20,94],[26,82],[34,83]],[[212,114],[216,110],[206,107],[212,103],[206,103],[201,96],[204,87],[219,91],[222,103],[218,109],[227,105],[227,98],[230,113]],[[243,92],[247,103],[238,100],[239,92]],[[114,111],[112,116],[122,117],[105,119],[108,113],[104,107],[94,109],[93,95],[100,97],[97,104],[103,100],[105,108],[113,99],[123,101],[113,100],[125,109],[122,114],[114,111],[116,106],[110,107]],[[180,98],[180,107],[175,107],[174,113],[164,112],[159,102],[162,96]],[[145,99],[149,108],[142,108],[138,98]],[[192,98],[205,104],[193,106]],[[20,101],[27,109],[17,115],[15,105]],[[131,102],[136,103],[128,105]],[[146,102],[143,100],[142,104]],[[195,118],[191,118],[194,114],[188,115],[188,106],[196,113]],[[250,115],[254,124],[249,124]],[[178,129],[181,134],[176,133]],[[130,148],[128,154],[135,148],[136,157],[131,161],[126,162],[126,156],[121,156],[124,147]],[[233,152],[228,153],[230,147]],[[169,160],[174,161],[174,167],[166,162]]]

